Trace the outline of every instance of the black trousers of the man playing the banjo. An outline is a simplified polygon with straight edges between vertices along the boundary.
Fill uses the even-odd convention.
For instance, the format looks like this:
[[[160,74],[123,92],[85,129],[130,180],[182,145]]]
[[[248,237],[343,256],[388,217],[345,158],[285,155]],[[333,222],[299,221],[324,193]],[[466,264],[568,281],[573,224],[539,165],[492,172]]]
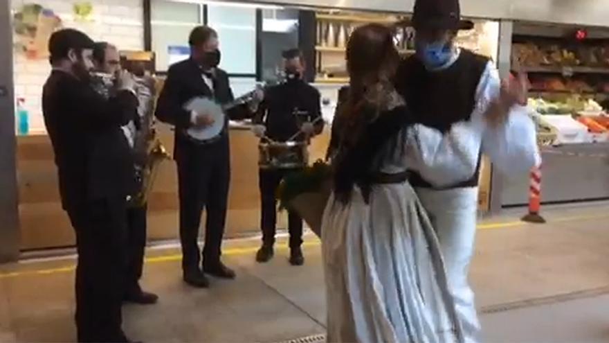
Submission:
[[[220,262],[228,186],[230,151],[228,139],[206,146],[181,143],[176,148],[180,200],[180,240],[184,271]],[[201,213],[206,210],[206,233],[203,254],[199,250]]]

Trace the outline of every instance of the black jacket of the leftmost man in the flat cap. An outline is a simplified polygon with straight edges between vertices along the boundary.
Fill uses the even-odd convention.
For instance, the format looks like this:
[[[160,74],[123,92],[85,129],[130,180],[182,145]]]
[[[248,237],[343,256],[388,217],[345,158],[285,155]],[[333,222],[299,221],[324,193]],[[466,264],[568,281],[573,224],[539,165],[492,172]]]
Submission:
[[[134,191],[134,159],[122,132],[137,98],[120,91],[106,100],[63,71],[53,71],[42,93],[46,130],[55,152],[64,209]]]

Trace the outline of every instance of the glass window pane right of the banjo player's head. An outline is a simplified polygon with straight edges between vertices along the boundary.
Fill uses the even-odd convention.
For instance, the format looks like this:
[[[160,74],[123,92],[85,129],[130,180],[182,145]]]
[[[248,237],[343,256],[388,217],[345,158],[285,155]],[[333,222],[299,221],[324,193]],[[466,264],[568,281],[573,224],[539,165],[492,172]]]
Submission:
[[[228,73],[256,73],[256,9],[234,4],[207,7],[208,25],[218,32],[222,58]]]

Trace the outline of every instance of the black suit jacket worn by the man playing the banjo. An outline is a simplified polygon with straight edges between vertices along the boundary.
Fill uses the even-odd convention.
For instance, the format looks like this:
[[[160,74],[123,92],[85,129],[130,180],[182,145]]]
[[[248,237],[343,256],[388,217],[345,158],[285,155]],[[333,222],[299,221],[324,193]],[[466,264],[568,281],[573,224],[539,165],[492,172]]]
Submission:
[[[155,116],[163,123],[174,125],[176,130],[174,154],[176,157],[181,155],[181,150],[187,150],[196,145],[183,133],[192,126],[190,113],[183,109],[185,103],[197,96],[213,98],[219,104],[230,103],[234,100],[233,91],[228,82],[228,74],[225,71],[215,70],[213,90],[206,85],[202,73],[199,64],[192,59],[173,64],[167,71],[163,90],[158,97]],[[230,109],[226,114],[227,123],[221,139],[204,147],[213,148],[228,144],[228,118],[238,120],[249,115],[244,106]]]

